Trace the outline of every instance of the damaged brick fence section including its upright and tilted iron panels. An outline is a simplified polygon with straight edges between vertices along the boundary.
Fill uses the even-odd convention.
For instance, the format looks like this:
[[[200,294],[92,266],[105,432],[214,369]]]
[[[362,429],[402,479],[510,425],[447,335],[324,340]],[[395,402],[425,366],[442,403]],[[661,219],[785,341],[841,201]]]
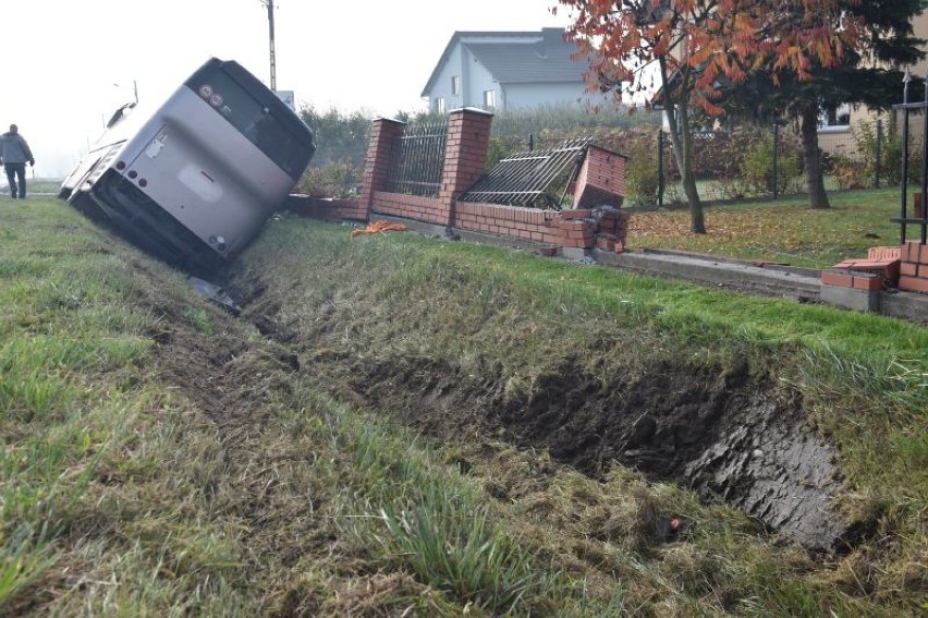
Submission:
[[[325,219],[440,226],[541,251],[624,251],[624,155],[576,138],[487,171],[491,122],[492,114],[472,108],[451,112],[447,125],[378,119],[359,199],[292,196],[286,207]]]

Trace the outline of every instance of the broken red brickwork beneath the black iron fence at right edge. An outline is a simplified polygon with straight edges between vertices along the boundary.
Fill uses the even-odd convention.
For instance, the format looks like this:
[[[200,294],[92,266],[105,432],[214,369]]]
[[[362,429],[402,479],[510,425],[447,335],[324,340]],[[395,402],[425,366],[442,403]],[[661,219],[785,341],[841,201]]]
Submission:
[[[899,288],[928,293],[928,245],[909,241],[902,246],[876,246],[866,259],[845,259],[821,274],[826,286],[871,292]]]

